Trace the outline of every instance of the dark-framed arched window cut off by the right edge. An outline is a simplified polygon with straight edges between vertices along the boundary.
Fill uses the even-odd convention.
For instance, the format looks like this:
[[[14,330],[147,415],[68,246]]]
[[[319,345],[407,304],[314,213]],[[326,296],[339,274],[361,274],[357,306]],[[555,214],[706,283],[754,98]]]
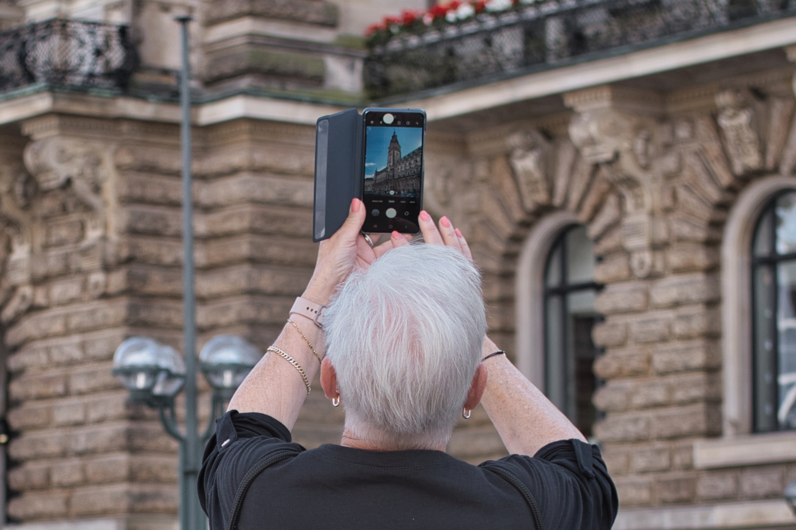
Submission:
[[[775,196],[751,243],[752,430],[796,429],[796,191]]]

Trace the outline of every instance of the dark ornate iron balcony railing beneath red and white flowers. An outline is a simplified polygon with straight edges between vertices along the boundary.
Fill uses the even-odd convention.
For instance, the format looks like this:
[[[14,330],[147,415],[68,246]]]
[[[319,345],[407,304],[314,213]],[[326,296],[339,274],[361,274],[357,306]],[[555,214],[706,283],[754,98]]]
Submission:
[[[796,0],[537,0],[371,48],[372,99],[552,68],[598,52],[796,15]]]

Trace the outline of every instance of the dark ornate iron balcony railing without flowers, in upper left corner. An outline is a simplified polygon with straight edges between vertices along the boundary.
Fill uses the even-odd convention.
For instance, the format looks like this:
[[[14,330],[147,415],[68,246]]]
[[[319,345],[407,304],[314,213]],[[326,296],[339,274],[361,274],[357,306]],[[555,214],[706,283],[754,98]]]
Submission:
[[[0,92],[33,83],[125,90],[137,64],[124,25],[56,18],[0,32]]]

